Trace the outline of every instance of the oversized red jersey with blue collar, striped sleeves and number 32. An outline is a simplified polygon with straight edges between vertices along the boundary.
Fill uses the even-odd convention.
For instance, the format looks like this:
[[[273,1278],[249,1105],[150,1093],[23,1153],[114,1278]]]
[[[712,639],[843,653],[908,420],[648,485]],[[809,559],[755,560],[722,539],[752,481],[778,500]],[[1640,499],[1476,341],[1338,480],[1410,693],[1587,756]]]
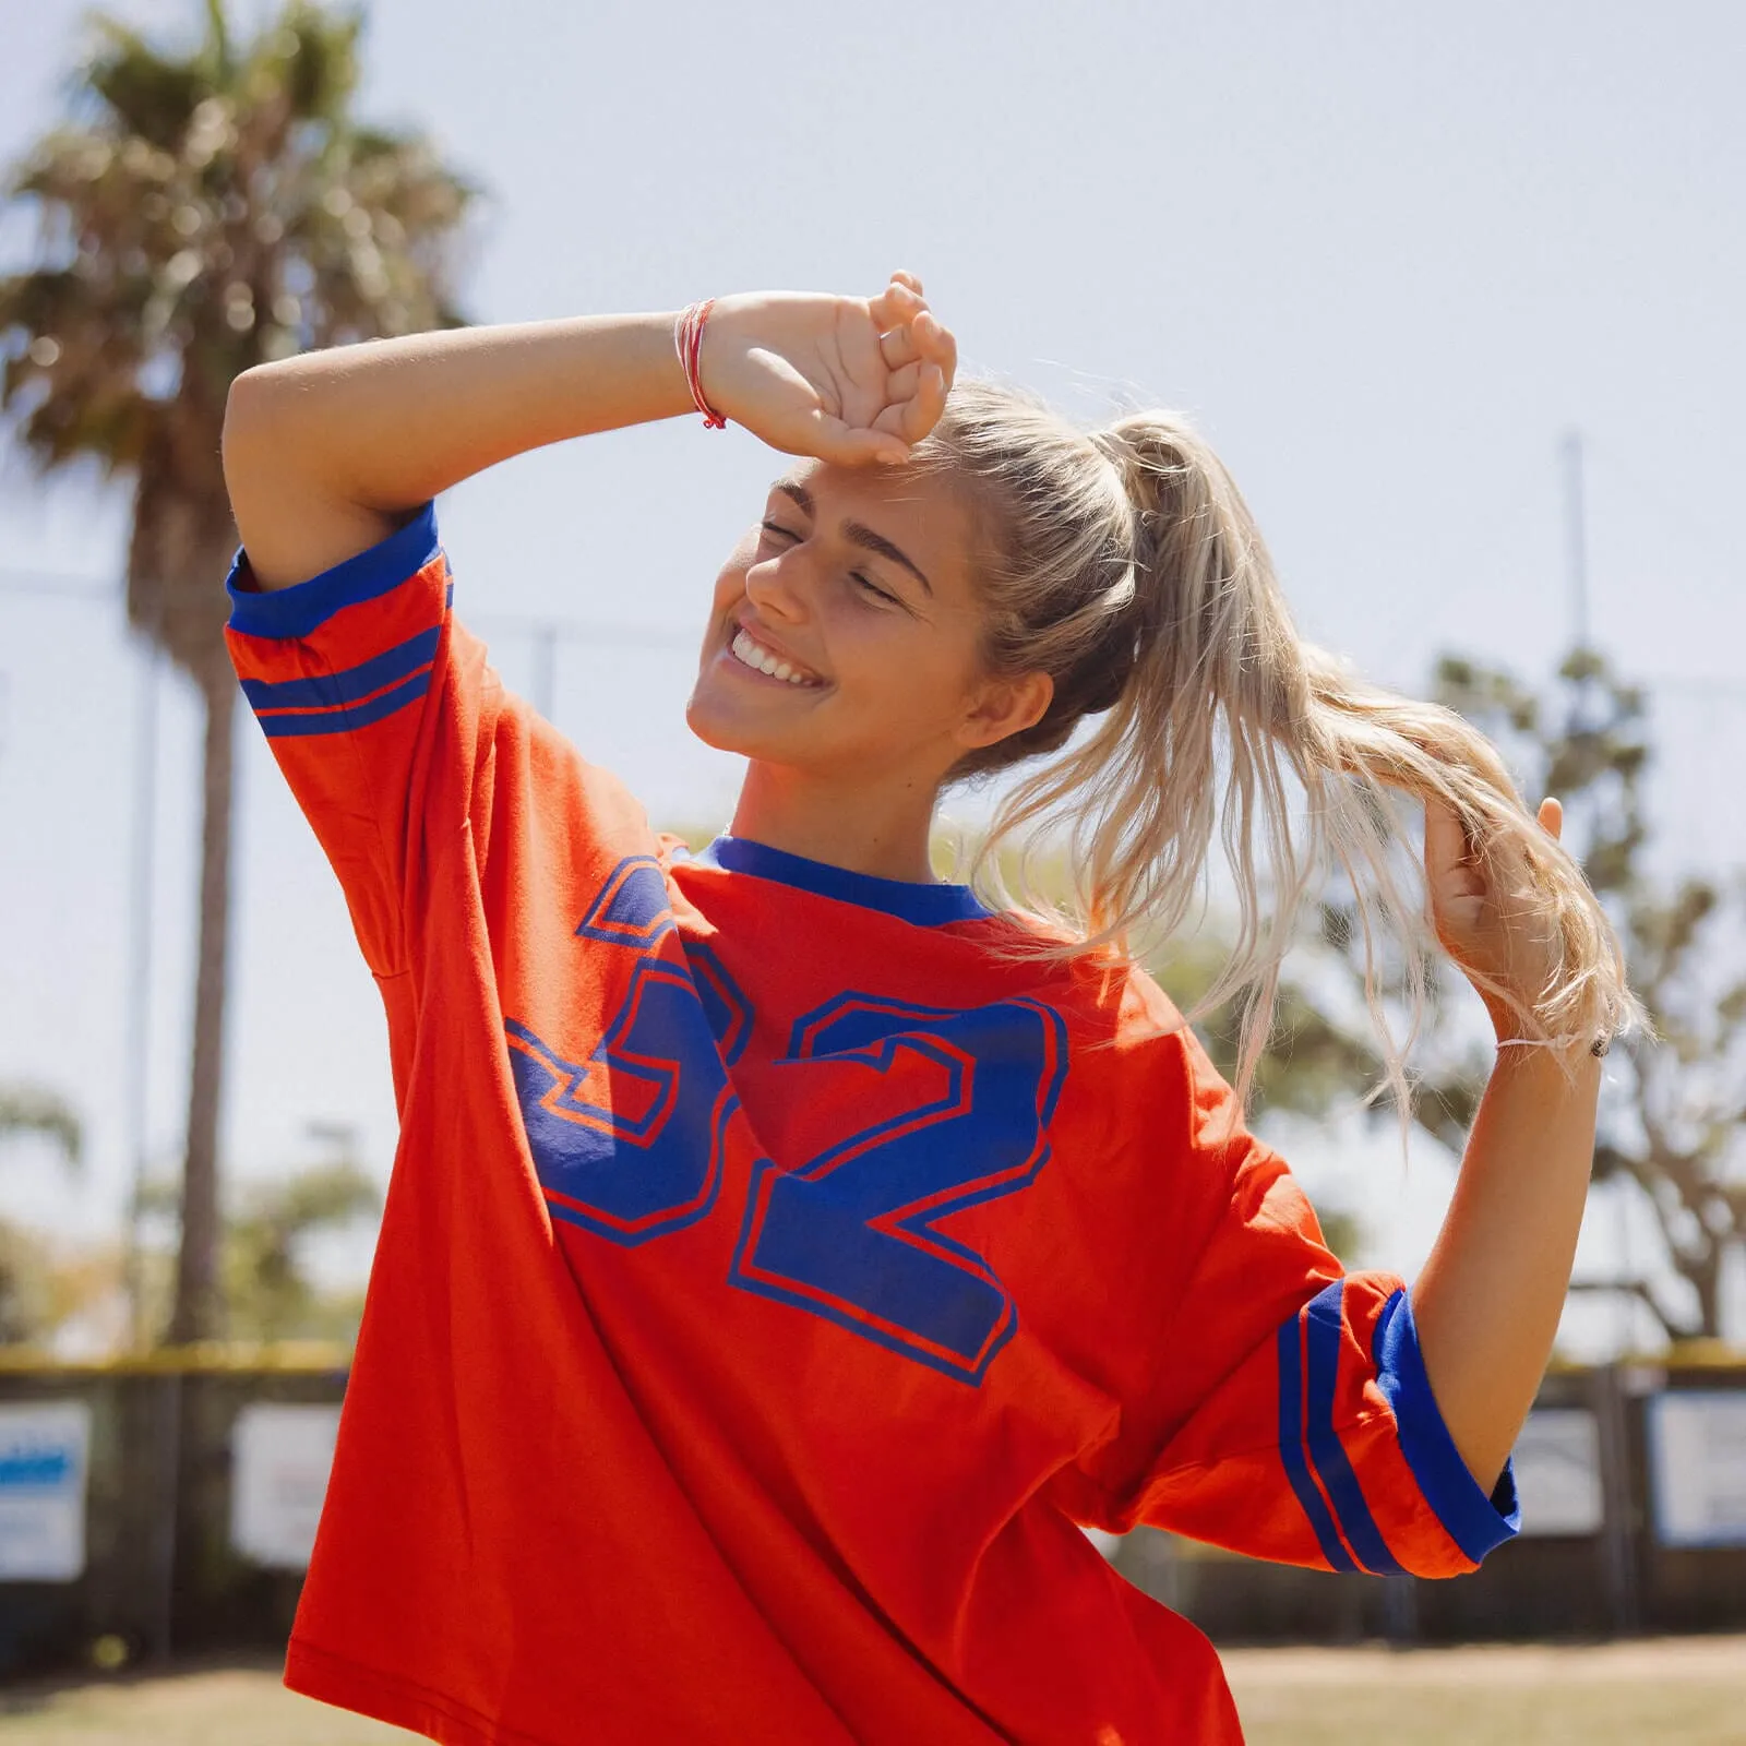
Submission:
[[[1081,1526],[1421,1575],[1514,1531],[1144,973],[686,857],[505,693],[430,506],[230,588],[402,1126],[293,1688],[464,1746],[1240,1741]]]

